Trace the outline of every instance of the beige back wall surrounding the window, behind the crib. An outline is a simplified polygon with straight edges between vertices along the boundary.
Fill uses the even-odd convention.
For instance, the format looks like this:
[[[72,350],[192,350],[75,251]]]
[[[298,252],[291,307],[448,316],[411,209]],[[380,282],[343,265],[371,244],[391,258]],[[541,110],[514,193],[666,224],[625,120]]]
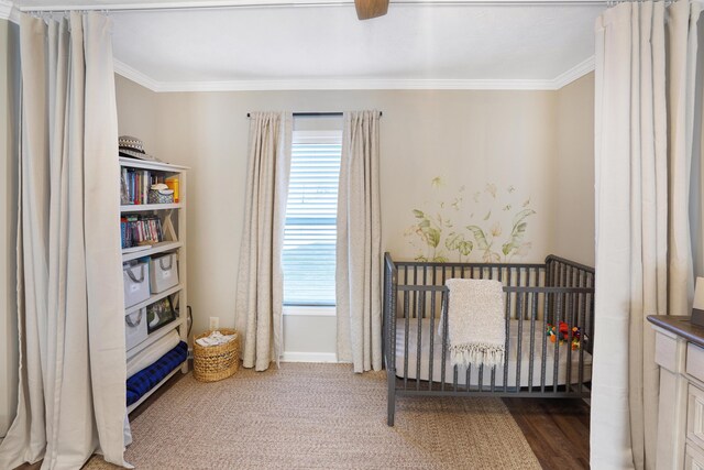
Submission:
[[[243,220],[249,120],[256,110],[340,111],[378,109],[382,118],[383,248],[396,258],[413,258],[428,247],[410,227],[414,209],[451,219],[463,236],[472,225],[486,233],[512,230],[528,203],[530,215],[515,261],[540,261],[557,250],[558,92],[477,90],[251,91],[157,94],[156,102],[135,98],[145,90],[118,77],[120,132],[132,116],[157,114],[148,151],[185,164],[189,173],[188,280],[194,330],[207,328],[209,316],[234,324],[234,288]],[[123,103],[129,102],[131,111]],[[134,103],[140,103],[134,107]],[[133,128],[134,129],[134,128]],[[136,135],[144,135],[134,129]],[[153,130],[146,129],[146,133]],[[592,135],[590,129],[584,129]],[[592,159],[590,157],[590,161]],[[435,184],[432,184],[435,181]],[[493,185],[493,186],[492,186]],[[496,197],[492,196],[494,194]],[[459,209],[452,207],[462,198]],[[593,196],[592,196],[593,197]],[[508,208],[508,209],[506,209]],[[490,214],[491,211],[491,214]],[[484,220],[486,219],[486,220]],[[452,231],[444,228],[443,242]],[[502,244],[496,243],[499,255]],[[459,256],[450,252],[447,255]],[[437,254],[437,253],[436,253]],[[471,253],[482,259],[481,250]],[[286,318],[297,348],[306,338],[327,336],[304,327],[309,319]],[[329,320],[321,320],[321,324]],[[292,326],[300,325],[300,330]],[[332,325],[333,326],[333,325]],[[327,328],[327,327],[326,327]],[[332,330],[332,329],[330,329]],[[330,331],[327,330],[327,331]],[[293,342],[292,336],[287,346]],[[311,346],[312,348],[312,346]],[[297,352],[306,352],[299,350]]]

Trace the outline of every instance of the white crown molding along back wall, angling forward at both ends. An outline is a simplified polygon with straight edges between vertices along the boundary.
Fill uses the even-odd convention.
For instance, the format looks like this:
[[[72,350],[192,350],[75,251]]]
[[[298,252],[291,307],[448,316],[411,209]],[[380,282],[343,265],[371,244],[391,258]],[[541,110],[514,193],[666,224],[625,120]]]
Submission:
[[[226,81],[158,81],[114,61],[114,72],[155,92],[178,91],[289,91],[289,90],[558,90],[594,69],[594,57],[553,79],[284,79]]]

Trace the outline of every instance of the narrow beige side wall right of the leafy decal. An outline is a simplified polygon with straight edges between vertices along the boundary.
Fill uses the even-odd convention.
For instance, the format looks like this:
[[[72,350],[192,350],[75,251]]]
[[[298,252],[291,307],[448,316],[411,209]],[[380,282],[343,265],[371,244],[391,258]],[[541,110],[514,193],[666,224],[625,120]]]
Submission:
[[[556,252],[594,265],[594,73],[558,91]]]

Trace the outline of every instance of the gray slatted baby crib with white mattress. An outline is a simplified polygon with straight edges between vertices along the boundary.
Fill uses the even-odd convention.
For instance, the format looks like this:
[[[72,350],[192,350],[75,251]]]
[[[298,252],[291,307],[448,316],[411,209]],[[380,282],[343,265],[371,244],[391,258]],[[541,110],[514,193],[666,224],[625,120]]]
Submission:
[[[503,367],[450,365],[448,278],[493,278],[506,295]],[[594,269],[550,255],[544,264],[398,262],[384,256],[384,357],[388,418],[410,395],[588,397]],[[563,341],[551,341],[549,326]],[[578,330],[573,330],[578,328]],[[562,337],[560,337],[562,338]],[[573,342],[576,345],[573,346]]]

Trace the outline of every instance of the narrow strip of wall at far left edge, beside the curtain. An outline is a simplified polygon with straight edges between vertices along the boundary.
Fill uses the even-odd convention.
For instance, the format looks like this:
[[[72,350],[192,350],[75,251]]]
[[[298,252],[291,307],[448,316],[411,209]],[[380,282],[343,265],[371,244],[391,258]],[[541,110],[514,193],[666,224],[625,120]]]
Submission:
[[[19,28],[0,20],[0,438],[12,423],[18,393],[16,205]]]

